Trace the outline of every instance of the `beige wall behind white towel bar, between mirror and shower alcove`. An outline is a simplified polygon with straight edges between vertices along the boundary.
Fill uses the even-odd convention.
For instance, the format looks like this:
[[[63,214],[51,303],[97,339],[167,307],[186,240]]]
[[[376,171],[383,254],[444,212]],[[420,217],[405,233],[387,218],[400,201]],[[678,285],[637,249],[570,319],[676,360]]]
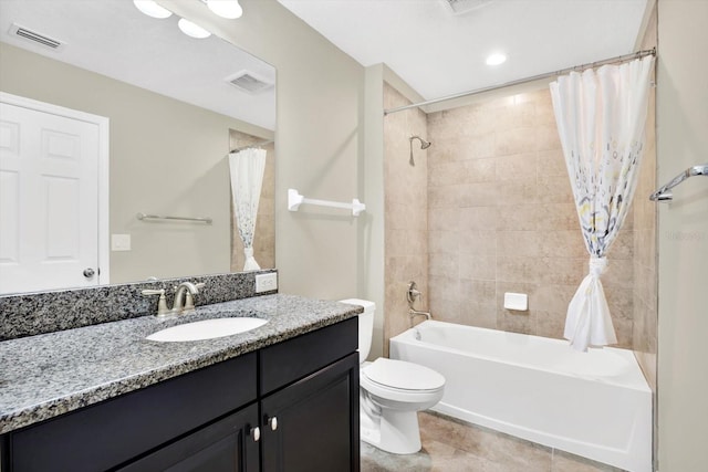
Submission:
[[[275,261],[280,290],[319,298],[360,295],[360,224],[345,211],[287,209],[288,188],[305,197],[358,197],[364,159],[364,67],[274,0],[242,0],[223,20],[194,0],[163,1],[278,70]],[[364,221],[364,222],[363,222]]]

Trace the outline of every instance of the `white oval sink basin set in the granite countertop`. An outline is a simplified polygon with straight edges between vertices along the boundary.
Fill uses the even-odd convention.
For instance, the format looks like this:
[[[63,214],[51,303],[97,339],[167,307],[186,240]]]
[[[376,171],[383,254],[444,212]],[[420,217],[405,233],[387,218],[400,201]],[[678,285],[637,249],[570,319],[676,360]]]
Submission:
[[[246,333],[263,326],[266,323],[268,323],[267,319],[252,317],[205,319],[158,331],[147,336],[147,339],[163,343],[214,339],[215,337]]]

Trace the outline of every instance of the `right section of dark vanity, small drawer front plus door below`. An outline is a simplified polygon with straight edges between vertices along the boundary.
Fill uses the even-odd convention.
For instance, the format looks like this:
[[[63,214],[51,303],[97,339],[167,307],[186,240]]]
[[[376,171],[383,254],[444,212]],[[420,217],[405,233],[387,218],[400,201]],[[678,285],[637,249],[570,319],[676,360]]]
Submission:
[[[358,321],[325,329],[259,353],[263,472],[360,470]]]

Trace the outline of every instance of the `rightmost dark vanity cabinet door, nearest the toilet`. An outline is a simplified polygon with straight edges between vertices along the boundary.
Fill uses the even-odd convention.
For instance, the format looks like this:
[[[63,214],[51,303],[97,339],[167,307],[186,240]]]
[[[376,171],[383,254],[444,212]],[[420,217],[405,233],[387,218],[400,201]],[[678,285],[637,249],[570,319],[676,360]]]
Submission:
[[[360,470],[358,354],[261,400],[263,472]]]

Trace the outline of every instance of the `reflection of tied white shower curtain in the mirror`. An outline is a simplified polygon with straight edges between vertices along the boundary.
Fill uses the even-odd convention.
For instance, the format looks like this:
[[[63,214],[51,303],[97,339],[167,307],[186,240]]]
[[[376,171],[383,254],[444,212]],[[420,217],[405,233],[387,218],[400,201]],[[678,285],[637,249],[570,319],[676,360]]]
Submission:
[[[236,218],[239,235],[243,242],[244,271],[260,269],[256,258],[253,258],[253,235],[261,186],[263,183],[263,171],[266,169],[266,155],[267,151],[264,149],[253,148],[229,155],[233,218]]]

